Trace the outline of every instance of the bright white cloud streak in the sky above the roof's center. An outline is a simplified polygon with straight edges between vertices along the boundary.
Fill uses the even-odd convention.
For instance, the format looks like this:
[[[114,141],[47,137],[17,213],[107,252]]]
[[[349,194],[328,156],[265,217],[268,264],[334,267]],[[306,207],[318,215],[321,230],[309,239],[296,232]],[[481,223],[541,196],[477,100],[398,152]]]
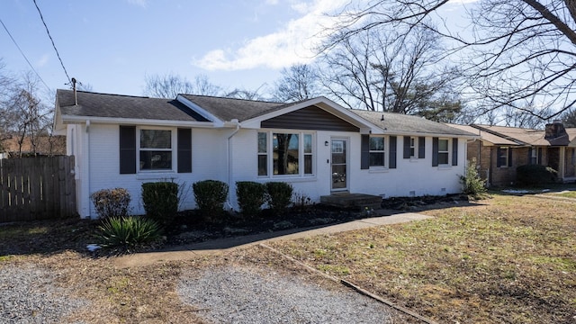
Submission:
[[[314,0],[293,3],[302,17],[287,23],[279,31],[247,40],[239,49],[212,49],[192,64],[208,70],[240,70],[254,67],[289,67],[305,63],[314,56],[313,48],[336,23],[325,13],[343,7],[348,0]]]

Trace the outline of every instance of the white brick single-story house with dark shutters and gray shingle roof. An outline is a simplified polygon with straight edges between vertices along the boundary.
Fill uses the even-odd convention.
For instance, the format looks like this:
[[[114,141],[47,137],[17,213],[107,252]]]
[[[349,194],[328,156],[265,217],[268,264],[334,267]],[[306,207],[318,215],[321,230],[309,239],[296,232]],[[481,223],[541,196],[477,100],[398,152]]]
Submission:
[[[459,193],[466,141],[476,136],[435,121],[349,110],[325,97],[271,103],[178,94],[159,99],[58,90],[54,129],[76,156],[78,213],[96,214],[90,194],[141,184],[184,184],[181,208],[196,207],[191,184],[283,181],[313,202],[331,193],[389,196]]]

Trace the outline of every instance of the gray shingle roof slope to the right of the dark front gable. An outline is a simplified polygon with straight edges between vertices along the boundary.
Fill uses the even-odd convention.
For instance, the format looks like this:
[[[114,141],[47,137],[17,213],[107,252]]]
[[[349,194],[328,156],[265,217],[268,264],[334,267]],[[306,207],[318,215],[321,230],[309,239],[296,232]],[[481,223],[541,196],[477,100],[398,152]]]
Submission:
[[[412,116],[394,112],[372,112],[366,110],[352,110],[358,116],[388,132],[396,133],[414,133],[414,134],[443,134],[454,136],[477,136],[465,130],[459,130],[447,126],[441,122],[428,121],[419,116]]]

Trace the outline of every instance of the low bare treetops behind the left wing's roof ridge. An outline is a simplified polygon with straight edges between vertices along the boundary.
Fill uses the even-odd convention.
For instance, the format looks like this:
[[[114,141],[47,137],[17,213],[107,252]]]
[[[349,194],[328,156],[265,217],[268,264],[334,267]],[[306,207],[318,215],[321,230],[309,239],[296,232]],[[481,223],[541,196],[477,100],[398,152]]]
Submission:
[[[208,76],[195,76],[190,82],[175,74],[146,76],[144,94],[157,98],[175,98],[178,94],[218,95],[220,86],[213,85]]]

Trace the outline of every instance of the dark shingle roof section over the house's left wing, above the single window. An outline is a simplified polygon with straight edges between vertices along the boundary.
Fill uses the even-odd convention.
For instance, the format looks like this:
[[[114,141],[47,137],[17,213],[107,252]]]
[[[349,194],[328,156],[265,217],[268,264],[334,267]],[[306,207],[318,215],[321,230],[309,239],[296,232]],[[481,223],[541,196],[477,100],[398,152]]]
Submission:
[[[62,115],[130,118],[164,121],[207,121],[183,103],[121,94],[97,94],[77,91],[75,105],[72,90],[58,89],[56,96]]]

